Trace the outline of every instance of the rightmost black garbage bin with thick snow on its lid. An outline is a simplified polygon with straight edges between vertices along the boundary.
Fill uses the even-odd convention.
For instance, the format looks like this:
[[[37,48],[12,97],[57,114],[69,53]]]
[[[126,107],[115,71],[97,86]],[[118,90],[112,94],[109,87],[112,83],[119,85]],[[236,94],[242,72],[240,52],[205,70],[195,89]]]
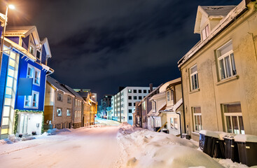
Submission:
[[[257,165],[257,136],[238,134],[235,136],[237,144],[239,161],[249,167]]]

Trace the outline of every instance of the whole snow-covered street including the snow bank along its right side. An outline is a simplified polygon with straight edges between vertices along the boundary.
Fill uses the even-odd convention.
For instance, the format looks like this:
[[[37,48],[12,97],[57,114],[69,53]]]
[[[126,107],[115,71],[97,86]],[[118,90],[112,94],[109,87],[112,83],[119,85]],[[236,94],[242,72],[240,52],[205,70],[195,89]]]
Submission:
[[[61,130],[31,141],[0,144],[1,167],[246,167],[210,158],[197,150],[195,141],[96,120],[102,127]]]

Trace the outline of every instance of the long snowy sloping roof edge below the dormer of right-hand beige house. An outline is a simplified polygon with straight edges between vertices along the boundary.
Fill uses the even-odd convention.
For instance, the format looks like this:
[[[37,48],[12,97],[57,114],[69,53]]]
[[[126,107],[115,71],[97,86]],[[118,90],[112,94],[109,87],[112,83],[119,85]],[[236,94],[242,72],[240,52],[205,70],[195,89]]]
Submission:
[[[200,49],[202,49],[207,43],[209,43],[214,37],[216,37],[217,34],[219,34],[223,29],[230,25],[231,22],[235,21],[235,18],[237,18],[239,15],[241,15],[246,10],[246,3],[245,1],[242,1],[237,5],[235,8],[233,8],[228,15],[223,18],[214,29],[211,30],[209,36],[204,41],[199,41],[191,50],[189,50],[186,55],[184,55],[178,62],[179,67],[181,67],[182,64],[184,64],[190,57],[193,57],[196,52],[198,52]]]

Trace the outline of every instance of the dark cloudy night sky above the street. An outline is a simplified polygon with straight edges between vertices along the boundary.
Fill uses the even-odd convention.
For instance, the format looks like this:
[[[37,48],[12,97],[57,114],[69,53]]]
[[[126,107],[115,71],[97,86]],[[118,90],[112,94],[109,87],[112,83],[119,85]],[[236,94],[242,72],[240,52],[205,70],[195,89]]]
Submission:
[[[22,0],[9,1],[8,25],[36,25],[47,37],[53,77],[91,89],[100,100],[119,86],[158,86],[180,76],[177,62],[200,40],[197,6],[240,1]],[[5,13],[1,1],[1,13]]]

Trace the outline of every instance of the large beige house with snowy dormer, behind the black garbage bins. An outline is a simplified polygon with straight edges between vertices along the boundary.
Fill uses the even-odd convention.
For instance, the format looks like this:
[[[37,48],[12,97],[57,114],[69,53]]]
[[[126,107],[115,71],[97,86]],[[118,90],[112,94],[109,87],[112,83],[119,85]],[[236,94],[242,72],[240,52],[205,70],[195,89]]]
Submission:
[[[257,135],[256,1],[199,6],[201,40],[179,61],[186,133],[200,130]]]

